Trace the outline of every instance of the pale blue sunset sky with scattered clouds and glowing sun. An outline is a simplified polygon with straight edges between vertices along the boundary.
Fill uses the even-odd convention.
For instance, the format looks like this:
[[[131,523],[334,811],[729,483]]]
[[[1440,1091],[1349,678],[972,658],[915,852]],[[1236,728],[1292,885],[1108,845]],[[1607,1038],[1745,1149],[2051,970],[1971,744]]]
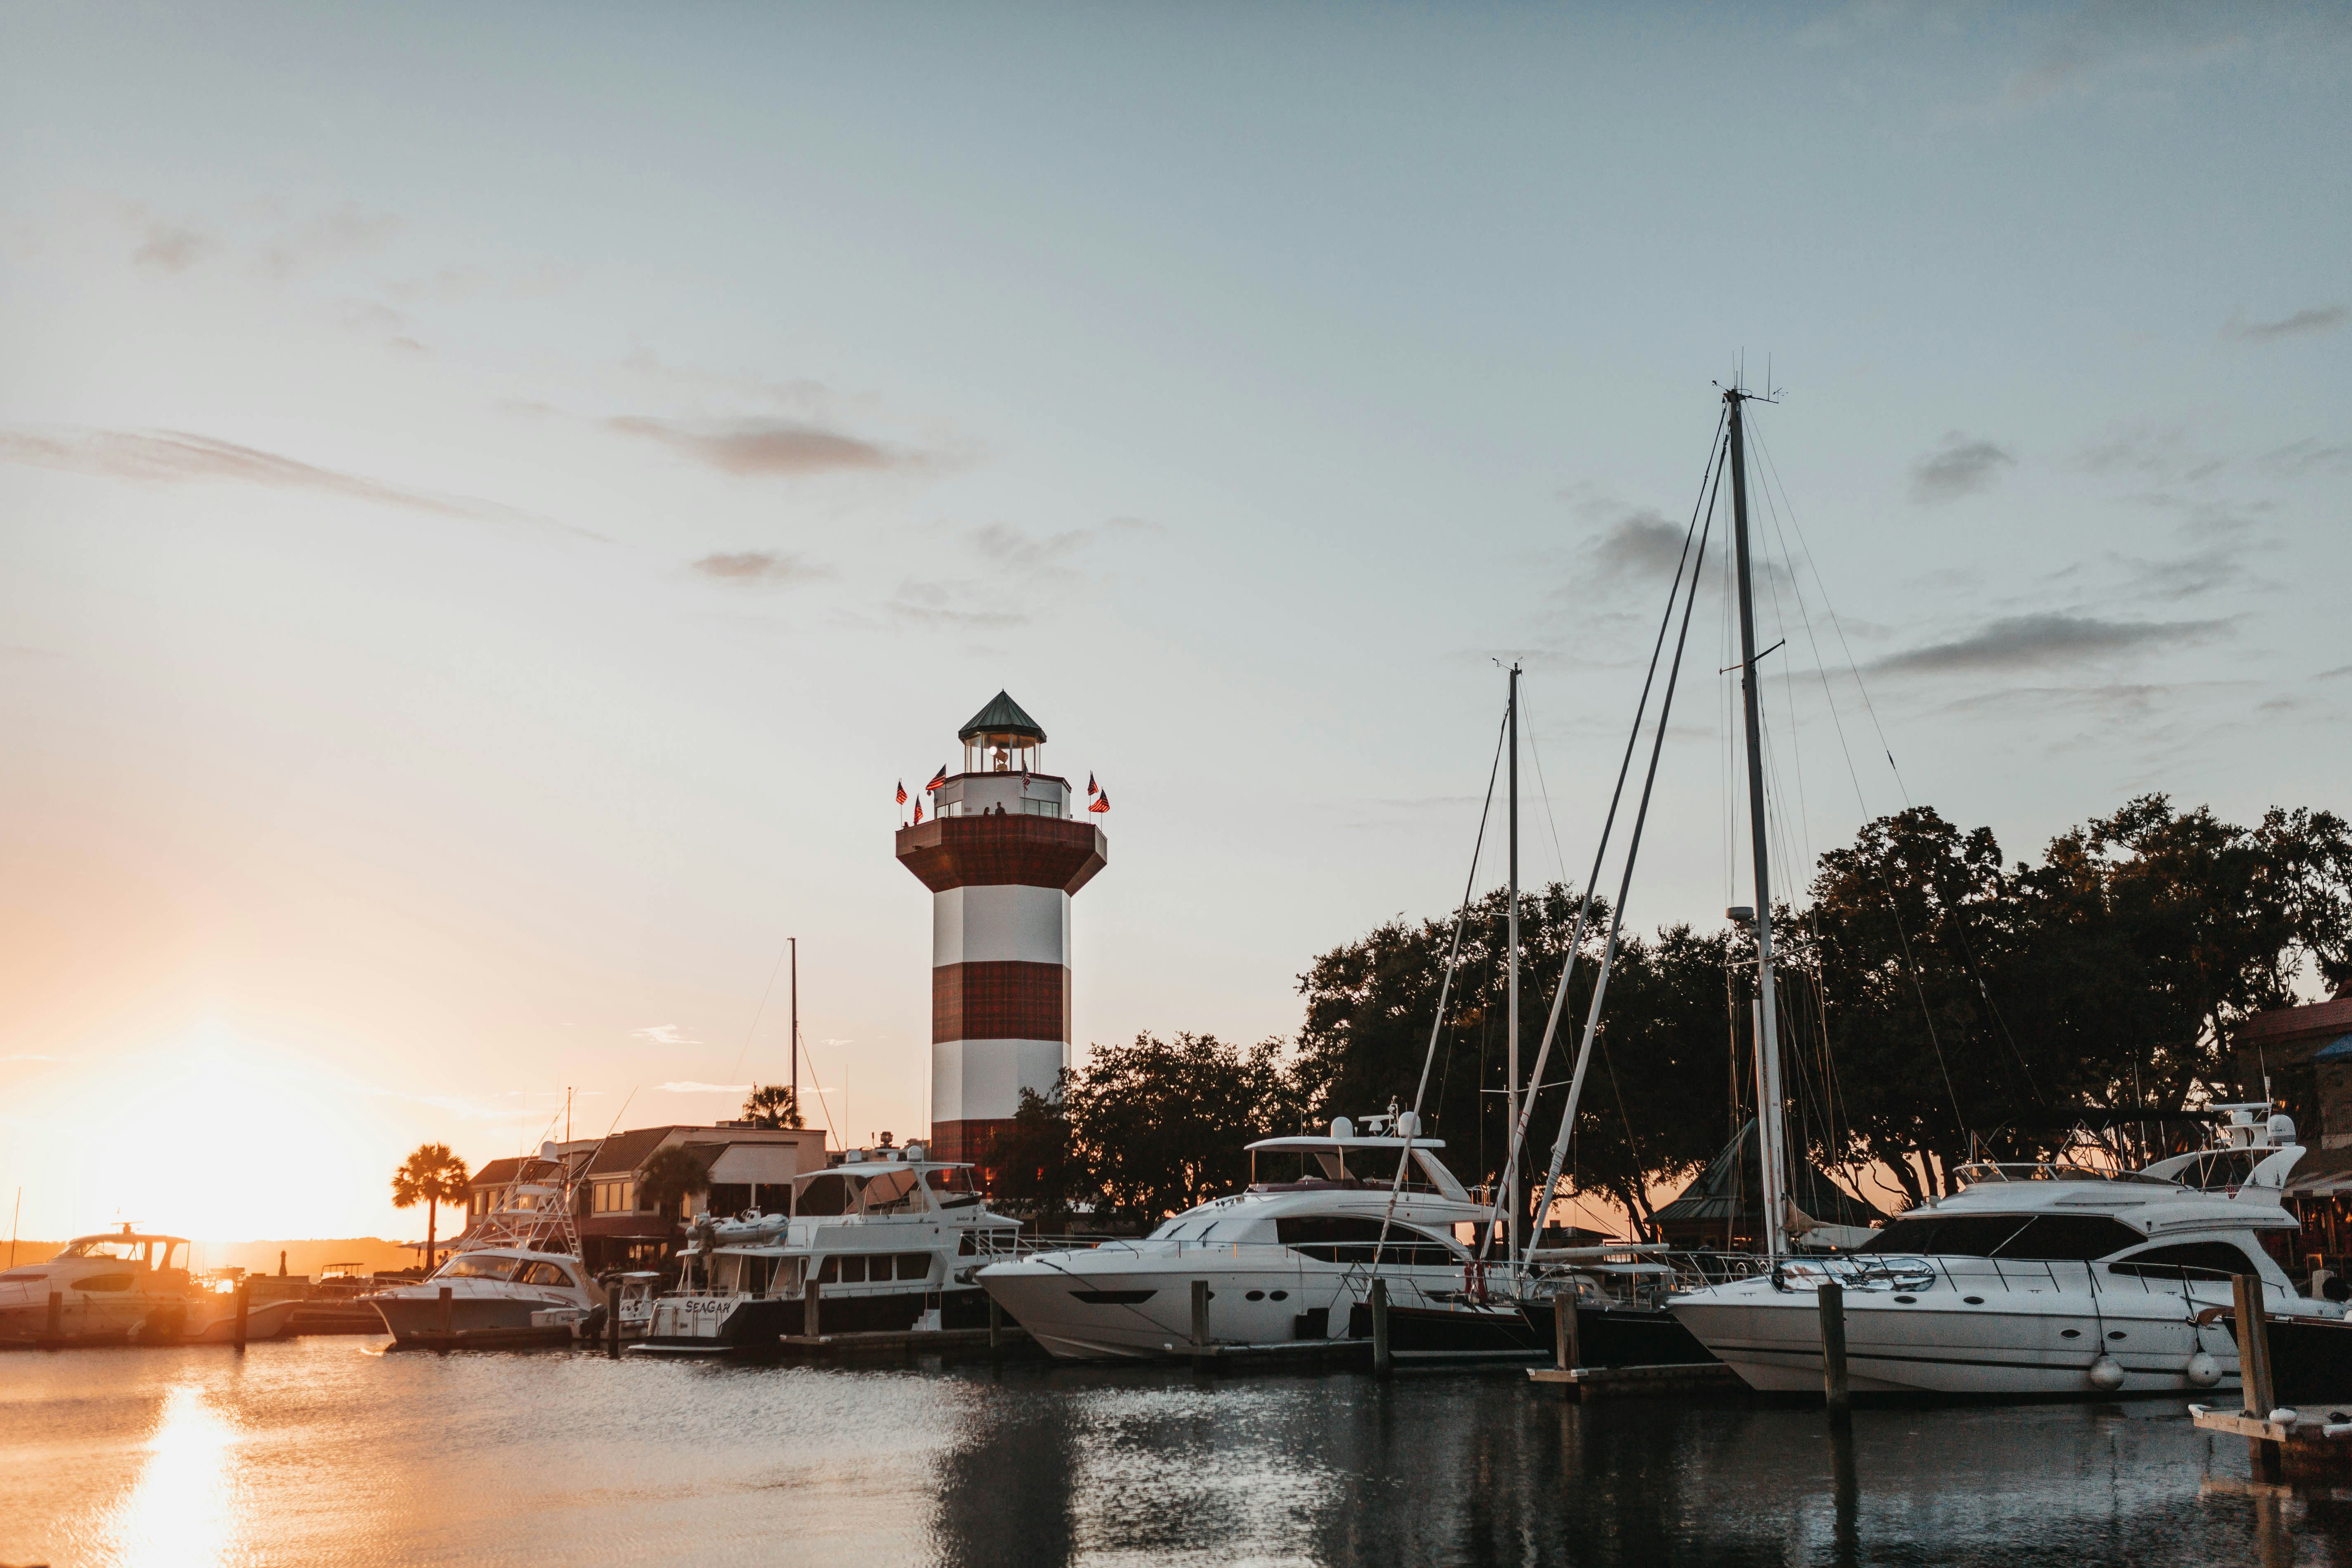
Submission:
[[[1583,882],[1733,376],[1783,891],[1905,802],[2352,809],[2347,78],[2336,7],[0,5],[0,1201],[421,1234],[421,1140],[781,1079],[795,936],[811,1110],[917,1131],[891,795],[997,689],[1117,802],[1077,1053],[1287,1037],[1461,896],[1510,661]],[[1717,588],[1642,929],[1752,900]]]

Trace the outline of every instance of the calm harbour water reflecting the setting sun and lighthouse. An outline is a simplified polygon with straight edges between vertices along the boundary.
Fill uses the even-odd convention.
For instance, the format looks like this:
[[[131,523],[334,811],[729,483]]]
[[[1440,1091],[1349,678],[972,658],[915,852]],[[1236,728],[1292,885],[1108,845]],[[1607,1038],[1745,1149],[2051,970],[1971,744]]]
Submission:
[[[1562,1403],[1519,1373],[0,1354],[0,1563],[2338,1563],[2180,1406]],[[2352,1493],[2345,1493],[2352,1497]]]

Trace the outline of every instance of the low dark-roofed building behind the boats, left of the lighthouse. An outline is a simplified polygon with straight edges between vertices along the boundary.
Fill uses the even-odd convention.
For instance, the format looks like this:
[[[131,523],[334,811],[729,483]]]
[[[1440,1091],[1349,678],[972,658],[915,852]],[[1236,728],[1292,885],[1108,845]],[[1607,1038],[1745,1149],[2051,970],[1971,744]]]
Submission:
[[[644,1168],[659,1150],[689,1147],[710,1187],[675,1213],[644,1194]],[[715,1126],[640,1126],[612,1138],[546,1143],[536,1157],[492,1159],[473,1175],[466,1229],[480,1227],[499,1194],[515,1180],[562,1185],[569,1171],[576,1197],[572,1218],[588,1272],[661,1267],[675,1253],[682,1225],[699,1213],[793,1213],[793,1178],[826,1168],[821,1128],[762,1128],[748,1121]],[[522,1199],[529,1206],[529,1199]]]

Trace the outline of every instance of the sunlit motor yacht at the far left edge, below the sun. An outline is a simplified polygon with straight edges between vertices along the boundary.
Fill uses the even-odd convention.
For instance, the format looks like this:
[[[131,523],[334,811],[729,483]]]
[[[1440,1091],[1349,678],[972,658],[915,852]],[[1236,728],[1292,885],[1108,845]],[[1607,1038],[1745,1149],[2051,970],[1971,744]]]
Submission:
[[[245,1338],[275,1338],[296,1305],[252,1302]],[[125,1225],[113,1237],[75,1237],[47,1262],[0,1274],[0,1340],[226,1345],[235,1333],[238,1298],[188,1276],[186,1237]]]

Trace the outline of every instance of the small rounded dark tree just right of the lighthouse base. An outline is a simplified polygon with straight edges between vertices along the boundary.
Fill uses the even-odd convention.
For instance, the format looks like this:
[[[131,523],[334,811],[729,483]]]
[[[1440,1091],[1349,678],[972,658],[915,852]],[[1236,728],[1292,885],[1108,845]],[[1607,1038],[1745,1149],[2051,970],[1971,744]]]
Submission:
[[[1061,1103],[1087,1185],[1143,1222],[1244,1187],[1242,1145],[1296,1131],[1303,1110],[1277,1041],[1244,1053],[1214,1034],[1098,1048]]]

